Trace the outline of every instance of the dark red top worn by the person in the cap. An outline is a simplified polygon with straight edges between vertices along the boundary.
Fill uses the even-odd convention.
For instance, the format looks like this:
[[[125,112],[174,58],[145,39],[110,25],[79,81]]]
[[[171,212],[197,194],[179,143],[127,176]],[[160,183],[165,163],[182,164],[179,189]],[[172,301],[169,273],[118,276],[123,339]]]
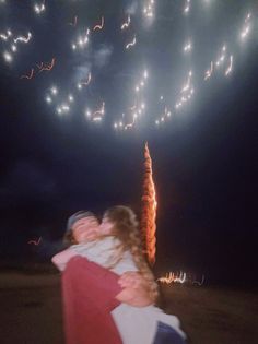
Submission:
[[[121,344],[110,311],[119,305],[119,276],[86,258],[72,258],[62,273],[67,344]]]

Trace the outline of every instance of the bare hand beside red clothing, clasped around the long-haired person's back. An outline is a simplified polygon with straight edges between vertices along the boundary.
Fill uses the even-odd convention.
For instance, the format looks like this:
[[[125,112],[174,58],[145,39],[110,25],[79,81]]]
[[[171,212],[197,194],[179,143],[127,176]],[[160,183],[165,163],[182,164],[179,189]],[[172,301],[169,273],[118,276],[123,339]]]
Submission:
[[[119,301],[134,307],[153,305],[150,284],[139,272],[125,272],[118,280],[118,284],[122,287],[116,296]]]

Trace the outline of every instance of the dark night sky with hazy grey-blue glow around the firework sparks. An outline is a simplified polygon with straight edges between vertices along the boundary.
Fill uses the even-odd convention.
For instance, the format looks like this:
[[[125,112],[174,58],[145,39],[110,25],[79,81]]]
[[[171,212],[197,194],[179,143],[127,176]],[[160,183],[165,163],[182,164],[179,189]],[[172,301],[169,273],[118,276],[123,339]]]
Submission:
[[[101,216],[108,206],[127,204],[140,215],[148,141],[159,202],[160,271],[254,283],[257,3],[192,0],[184,14],[187,1],[162,0],[155,1],[153,17],[144,15],[143,3],[46,0],[45,12],[37,14],[33,1],[0,2],[0,34],[11,29],[13,35],[0,39],[1,259],[49,259],[67,217],[81,209]],[[122,32],[129,14],[130,26]],[[77,25],[70,25],[75,16]],[[93,32],[102,16],[103,29]],[[241,38],[249,23],[250,32]],[[72,41],[87,27],[89,46],[73,50]],[[9,41],[28,32],[31,41],[19,41],[13,60],[4,60]],[[136,45],[126,49],[134,36]],[[184,54],[188,38],[192,50]],[[225,61],[204,81],[224,44]],[[225,76],[230,56],[233,69]],[[36,63],[52,58],[54,68],[39,72]],[[32,69],[32,79],[21,78]],[[144,70],[146,85],[139,96],[134,87]],[[195,93],[177,109],[189,71]],[[91,83],[78,90],[90,72]],[[58,94],[47,104],[54,85]],[[70,110],[58,114],[69,94]],[[131,122],[128,109],[138,100],[144,102],[144,114],[132,128],[115,129],[121,120],[124,127]],[[103,102],[101,121],[85,116]],[[166,109],[171,116],[163,121]],[[38,246],[27,244],[39,237]]]

